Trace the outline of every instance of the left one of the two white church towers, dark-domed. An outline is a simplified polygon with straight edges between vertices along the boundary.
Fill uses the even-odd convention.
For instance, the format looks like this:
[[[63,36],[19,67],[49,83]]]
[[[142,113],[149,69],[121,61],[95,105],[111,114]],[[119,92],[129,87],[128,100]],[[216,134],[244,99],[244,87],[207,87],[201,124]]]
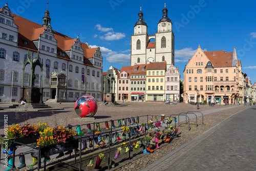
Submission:
[[[131,66],[146,62],[147,25],[143,13],[139,12],[139,20],[135,23],[134,34],[131,36]]]

